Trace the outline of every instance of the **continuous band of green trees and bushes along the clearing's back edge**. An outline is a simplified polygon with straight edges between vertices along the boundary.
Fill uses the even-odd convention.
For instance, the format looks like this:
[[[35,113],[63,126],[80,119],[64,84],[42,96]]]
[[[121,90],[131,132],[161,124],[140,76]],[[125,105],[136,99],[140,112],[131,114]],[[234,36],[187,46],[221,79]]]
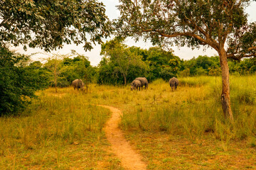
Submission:
[[[122,55],[121,55],[122,54]],[[70,86],[82,79],[86,86],[97,84],[128,84],[136,77],[168,81],[171,77],[220,76],[218,57],[198,56],[181,60],[172,51],[160,47],[149,50],[128,47],[122,41],[111,40],[102,45],[102,61],[97,67],[87,57],[76,52],[53,55],[43,63],[29,56],[1,48],[1,114],[15,113],[26,107],[34,92],[48,86]],[[256,72],[255,58],[229,61],[230,73],[251,75]]]

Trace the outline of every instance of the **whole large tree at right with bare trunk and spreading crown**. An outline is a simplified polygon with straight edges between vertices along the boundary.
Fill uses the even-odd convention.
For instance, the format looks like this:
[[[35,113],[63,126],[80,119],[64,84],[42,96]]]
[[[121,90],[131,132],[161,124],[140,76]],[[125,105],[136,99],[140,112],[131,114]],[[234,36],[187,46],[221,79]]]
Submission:
[[[221,103],[225,118],[230,106],[228,57],[255,56],[255,23],[247,26],[249,0],[119,0],[119,33],[150,39],[153,44],[212,47],[222,69]]]

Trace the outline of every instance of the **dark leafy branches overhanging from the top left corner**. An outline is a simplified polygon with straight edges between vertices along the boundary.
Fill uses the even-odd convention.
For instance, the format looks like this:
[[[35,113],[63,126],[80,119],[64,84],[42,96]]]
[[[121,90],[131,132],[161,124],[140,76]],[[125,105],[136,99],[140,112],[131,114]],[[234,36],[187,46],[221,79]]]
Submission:
[[[0,43],[41,47],[50,51],[63,43],[102,43],[111,27],[102,2],[97,0],[0,1]],[[90,35],[90,36],[89,36]]]

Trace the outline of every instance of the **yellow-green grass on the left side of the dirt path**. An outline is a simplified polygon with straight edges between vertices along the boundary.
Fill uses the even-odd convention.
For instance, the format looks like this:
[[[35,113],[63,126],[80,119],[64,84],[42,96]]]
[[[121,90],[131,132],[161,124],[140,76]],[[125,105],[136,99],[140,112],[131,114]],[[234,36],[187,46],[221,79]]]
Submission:
[[[0,118],[0,169],[69,169],[79,153],[83,155],[75,162],[92,157],[82,164],[96,166],[104,153],[97,145],[105,141],[102,127],[110,111],[85,103],[79,92],[63,95],[62,91],[67,89],[60,89],[58,95],[48,89],[20,116]],[[92,144],[94,148],[87,147]]]

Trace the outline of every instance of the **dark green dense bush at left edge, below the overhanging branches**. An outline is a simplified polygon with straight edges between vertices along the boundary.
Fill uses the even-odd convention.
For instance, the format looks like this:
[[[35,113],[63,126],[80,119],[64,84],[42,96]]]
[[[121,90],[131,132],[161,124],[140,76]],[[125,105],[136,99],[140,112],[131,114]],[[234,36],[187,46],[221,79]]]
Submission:
[[[26,67],[28,60],[28,56],[0,46],[0,116],[26,108],[36,98],[35,91],[46,88],[48,77]]]

